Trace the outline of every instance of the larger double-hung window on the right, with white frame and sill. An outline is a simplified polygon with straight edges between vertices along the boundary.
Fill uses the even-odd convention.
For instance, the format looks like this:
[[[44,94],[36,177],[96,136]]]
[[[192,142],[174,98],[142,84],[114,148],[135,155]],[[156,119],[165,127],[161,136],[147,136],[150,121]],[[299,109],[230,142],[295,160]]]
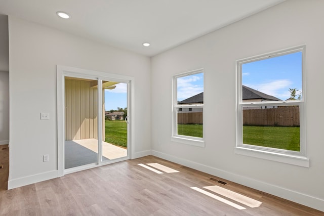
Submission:
[[[236,61],[235,152],[309,166],[300,46]]]

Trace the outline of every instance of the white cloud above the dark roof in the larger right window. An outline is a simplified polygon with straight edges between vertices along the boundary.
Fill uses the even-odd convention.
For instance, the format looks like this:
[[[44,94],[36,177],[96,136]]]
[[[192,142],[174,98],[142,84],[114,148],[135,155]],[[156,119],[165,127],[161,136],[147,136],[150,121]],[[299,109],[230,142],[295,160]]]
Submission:
[[[266,83],[246,85],[259,92],[280,98],[281,100],[286,100],[290,98],[289,88],[292,88],[292,81],[289,79],[278,79]]]

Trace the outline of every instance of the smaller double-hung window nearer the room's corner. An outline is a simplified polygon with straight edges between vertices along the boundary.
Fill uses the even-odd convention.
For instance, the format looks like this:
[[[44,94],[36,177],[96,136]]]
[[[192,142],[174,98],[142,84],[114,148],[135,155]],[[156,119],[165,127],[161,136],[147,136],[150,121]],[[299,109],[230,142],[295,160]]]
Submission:
[[[172,140],[204,147],[203,69],[173,77],[173,132]]]

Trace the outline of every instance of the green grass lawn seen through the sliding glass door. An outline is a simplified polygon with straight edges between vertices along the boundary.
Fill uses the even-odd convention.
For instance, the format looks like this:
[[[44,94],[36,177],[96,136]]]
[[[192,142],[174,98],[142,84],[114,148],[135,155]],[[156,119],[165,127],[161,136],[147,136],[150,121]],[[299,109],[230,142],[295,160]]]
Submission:
[[[127,148],[127,123],[124,120],[105,121],[106,142]]]

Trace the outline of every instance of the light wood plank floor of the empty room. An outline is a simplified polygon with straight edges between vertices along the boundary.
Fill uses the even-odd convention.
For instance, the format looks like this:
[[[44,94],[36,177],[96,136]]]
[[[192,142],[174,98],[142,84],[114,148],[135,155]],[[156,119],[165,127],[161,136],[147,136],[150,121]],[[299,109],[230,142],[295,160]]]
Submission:
[[[163,174],[156,174],[139,163],[159,163],[179,172],[161,170]],[[210,178],[228,184],[224,186]],[[74,172],[12,190],[4,190],[3,185],[1,183],[0,215],[324,215],[324,212],[154,156]],[[203,187],[212,185],[262,204],[252,208],[209,191],[246,208],[239,210],[191,189],[208,191]]]

